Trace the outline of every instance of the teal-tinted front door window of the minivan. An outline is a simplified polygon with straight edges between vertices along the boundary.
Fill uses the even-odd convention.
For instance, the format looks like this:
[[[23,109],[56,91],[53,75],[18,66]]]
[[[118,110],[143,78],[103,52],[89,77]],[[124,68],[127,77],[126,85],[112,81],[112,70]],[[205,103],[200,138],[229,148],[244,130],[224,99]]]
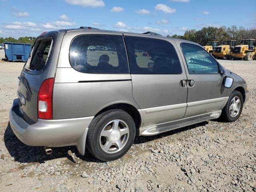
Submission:
[[[188,43],[182,43],[181,48],[190,74],[214,74],[219,72],[216,60],[204,48]]]

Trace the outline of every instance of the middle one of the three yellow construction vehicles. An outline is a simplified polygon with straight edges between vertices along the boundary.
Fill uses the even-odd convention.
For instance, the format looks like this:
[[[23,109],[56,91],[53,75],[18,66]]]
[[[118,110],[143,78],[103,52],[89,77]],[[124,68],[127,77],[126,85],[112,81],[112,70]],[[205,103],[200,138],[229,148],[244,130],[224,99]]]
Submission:
[[[216,59],[227,58],[230,59],[229,52],[234,50],[236,40],[224,40],[222,45],[216,47],[216,50],[212,52]]]

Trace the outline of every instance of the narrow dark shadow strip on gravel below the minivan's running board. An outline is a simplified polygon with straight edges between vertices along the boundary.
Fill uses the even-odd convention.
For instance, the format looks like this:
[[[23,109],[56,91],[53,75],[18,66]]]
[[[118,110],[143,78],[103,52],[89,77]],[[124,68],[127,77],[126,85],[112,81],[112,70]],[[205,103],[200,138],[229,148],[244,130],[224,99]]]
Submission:
[[[174,135],[174,134],[179,134],[181,132],[184,132],[184,131],[187,131],[187,130],[190,130],[190,129],[193,129],[193,128],[196,128],[196,127],[199,127],[199,126],[205,126],[206,124],[208,124],[207,121],[201,122],[201,123],[198,123],[198,124],[194,124],[194,125],[190,125],[190,126],[186,126],[186,127],[183,127],[183,128],[175,129],[175,130],[172,130],[172,131],[164,132],[164,133],[154,135],[154,136],[136,137],[135,141],[134,141],[134,144],[146,143],[146,142],[156,140],[156,139],[159,139],[159,138],[162,138],[162,137],[166,137],[166,136],[170,136],[170,135]]]

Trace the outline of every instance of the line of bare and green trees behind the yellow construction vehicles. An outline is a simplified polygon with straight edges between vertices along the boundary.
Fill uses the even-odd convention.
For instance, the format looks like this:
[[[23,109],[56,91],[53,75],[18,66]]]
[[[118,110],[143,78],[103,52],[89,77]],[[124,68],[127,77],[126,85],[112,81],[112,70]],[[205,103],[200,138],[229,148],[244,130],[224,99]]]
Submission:
[[[168,35],[167,37],[180,38],[184,40],[193,41],[205,46],[208,41],[218,41],[222,44],[224,40],[236,40],[236,44],[239,45],[242,39],[256,39],[256,28],[245,29],[240,26],[226,27],[204,27],[201,30],[186,30],[184,35]]]

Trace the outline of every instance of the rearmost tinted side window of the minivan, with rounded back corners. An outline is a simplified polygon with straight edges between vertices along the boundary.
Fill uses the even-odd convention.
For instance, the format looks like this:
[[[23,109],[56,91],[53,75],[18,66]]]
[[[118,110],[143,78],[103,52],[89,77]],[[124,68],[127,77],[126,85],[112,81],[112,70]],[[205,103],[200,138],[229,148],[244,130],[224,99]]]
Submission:
[[[82,35],[70,45],[70,64],[84,73],[129,73],[122,36]]]

